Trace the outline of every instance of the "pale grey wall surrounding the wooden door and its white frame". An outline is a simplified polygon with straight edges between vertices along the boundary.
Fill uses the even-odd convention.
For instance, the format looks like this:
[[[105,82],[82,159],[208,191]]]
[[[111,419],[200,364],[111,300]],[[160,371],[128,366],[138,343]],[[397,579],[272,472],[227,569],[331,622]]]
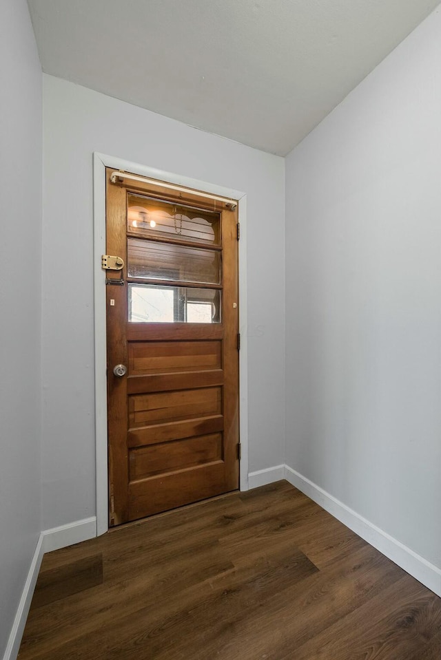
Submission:
[[[283,462],[283,158],[43,81],[43,529],[95,513],[94,151],[247,193],[249,469]]]

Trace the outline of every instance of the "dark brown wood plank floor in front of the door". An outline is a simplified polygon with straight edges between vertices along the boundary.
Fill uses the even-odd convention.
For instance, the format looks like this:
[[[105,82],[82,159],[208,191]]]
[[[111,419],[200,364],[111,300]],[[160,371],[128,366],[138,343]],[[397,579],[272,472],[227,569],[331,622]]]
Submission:
[[[287,482],[45,555],[20,660],[440,660],[441,599]]]

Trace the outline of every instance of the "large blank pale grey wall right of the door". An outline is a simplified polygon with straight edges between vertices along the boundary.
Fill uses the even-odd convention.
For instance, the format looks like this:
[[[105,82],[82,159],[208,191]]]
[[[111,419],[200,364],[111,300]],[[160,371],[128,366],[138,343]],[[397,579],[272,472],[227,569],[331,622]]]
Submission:
[[[287,464],[441,567],[441,12],[287,157]]]

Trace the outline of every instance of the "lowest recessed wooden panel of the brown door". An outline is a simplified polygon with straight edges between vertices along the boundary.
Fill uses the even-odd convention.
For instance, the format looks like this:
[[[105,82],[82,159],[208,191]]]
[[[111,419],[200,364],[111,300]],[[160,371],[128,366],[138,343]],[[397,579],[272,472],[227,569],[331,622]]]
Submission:
[[[130,481],[222,459],[222,434],[169,440],[130,450]]]

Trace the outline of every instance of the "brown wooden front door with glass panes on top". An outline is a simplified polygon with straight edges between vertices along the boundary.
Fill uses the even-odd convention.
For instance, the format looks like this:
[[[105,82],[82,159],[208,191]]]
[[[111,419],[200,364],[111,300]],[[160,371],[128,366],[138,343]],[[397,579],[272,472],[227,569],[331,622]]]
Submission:
[[[238,233],[227,200],[111,174],[107,255],[124,262],[106,271],[115,525],[238,488]]]

